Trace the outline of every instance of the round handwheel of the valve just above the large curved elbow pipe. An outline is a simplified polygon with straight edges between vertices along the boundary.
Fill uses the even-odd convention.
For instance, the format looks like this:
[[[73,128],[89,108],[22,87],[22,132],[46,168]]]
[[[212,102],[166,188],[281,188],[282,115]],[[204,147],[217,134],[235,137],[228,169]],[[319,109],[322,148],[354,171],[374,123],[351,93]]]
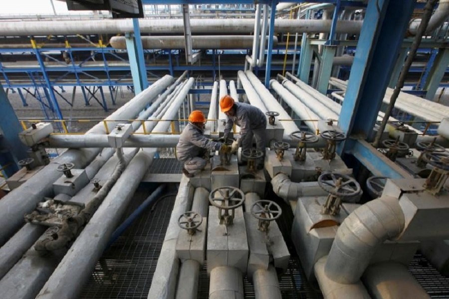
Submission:
[[[352,177],[338,172],[326,172],[318,177],[318,185],[326,192],[349,197],[360,193],[360,184]]]

